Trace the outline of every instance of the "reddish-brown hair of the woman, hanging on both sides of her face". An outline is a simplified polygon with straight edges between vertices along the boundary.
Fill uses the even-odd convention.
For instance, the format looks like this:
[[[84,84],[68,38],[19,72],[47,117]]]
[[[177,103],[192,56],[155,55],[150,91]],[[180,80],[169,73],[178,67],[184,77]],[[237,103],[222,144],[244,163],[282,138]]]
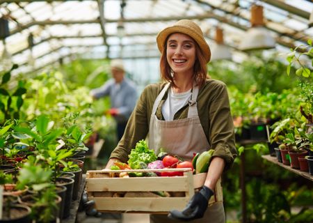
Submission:
[[[172,35],[172,33],[170,34]],[[161,79],[163,79],[166,82],[170,82],[173,86],[176,87],[174,83],[174,78],[172,77],[172,69],[170,68],[170,65],[168,64],[168,59],[166,58],[166,47],[168,43],[168,38],[166,38],[166,41],[163,44],[163,52],[161,54],[160,59],[160,72],[161,72]],[[193,40],[195,42],[195,40]],[[202,51],[198,45],[197,42],[195,42],[195,64],[193,66],[193,79],[198,84],[198,86],[202,86],[204,84],[205,80],[208,78],[207,75],[207,61],[205,60]]]

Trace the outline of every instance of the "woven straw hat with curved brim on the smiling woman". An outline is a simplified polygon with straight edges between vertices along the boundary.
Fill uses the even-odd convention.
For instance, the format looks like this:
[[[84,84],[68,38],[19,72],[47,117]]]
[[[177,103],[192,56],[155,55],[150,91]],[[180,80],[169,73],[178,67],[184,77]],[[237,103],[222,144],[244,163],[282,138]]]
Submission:
[[[195,42],[197,42],[200,46],[207,63],[209,63],[211,59],[211,50],[209,45],[207,45],[207,42],[204,40],[203,33],[198,24],[195,24],[195,22],[191,20],[179,20],[172,26],[168,26],[163,29],[157,36],[157,44],[160,52],[163,52],[163,46],[166,38],[168,38],[168,36],[172,33],[184,33],[193,38],[193,40],[195,40]]]

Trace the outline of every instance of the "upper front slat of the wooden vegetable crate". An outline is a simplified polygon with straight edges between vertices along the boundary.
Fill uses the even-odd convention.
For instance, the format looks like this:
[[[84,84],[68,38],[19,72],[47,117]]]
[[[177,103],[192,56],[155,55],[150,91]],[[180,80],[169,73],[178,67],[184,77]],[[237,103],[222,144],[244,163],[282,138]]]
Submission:
[[[187,177],[88,178],[87,191],[188,191]]]

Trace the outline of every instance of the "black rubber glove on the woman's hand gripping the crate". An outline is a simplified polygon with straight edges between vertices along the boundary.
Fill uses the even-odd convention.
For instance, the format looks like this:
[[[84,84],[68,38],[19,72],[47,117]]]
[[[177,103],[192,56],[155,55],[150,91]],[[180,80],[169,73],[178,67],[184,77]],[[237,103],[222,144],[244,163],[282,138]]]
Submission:
[[[214,195],[214,192],[209,187],[202,186],[202,189],[193,195],[184,210],[171,210],[168,217],[183,221],[201,218],[207,210],[209,199],[212,195]]]

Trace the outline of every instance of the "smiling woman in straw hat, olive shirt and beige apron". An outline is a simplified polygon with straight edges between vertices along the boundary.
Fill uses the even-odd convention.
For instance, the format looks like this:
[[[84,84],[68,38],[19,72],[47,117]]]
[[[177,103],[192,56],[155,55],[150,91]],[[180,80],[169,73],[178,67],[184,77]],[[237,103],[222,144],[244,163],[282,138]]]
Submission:
[[[231,167],[236,148],[225,84],[207,79],[209,45],[200,27],[179,20],[157,36],[161,77],[166,83],[147,86],[127,123],[125,134],[111,153],[113,162],[127,162],[131,148],[149,133],[149,148],[191,160],[193,153],[214,148],[207,178],[183,211],[150,215],[150,222],[225,222],[220,176]],[[209,207],[208,207],[209,206]]]

